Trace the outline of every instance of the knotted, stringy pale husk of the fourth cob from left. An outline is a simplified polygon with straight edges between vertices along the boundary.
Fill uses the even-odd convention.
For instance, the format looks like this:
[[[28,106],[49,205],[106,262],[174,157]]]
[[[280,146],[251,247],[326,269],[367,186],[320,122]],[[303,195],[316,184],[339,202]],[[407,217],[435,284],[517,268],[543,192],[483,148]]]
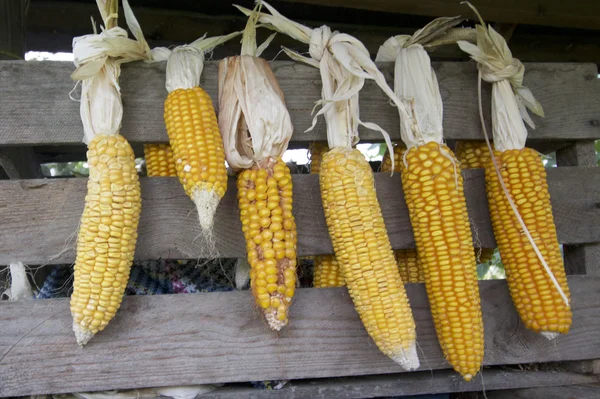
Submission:
[[[396,97],[387,85],[383,74],[371,60],[365,46],[348,34],[331,31],[328,26],[311,29],[287,19],[266,2],[261,4],[271,14],[260,13],[259,21],[271,29],[309,44],[310,57],[287,48],[284,48],[284,51],[292,59],[318,68],[321,72],[322,98],[317,102],[321,109],[315,114],[312,125],[307,131],[314,129],[318,117],[324,115],[327,120],[329,148],[354,146],[359,141],[359,126],[379,131],[386,144],[391,147],[390,137],[385,130],[375,123],[360,119],[358,94],[365,80],[374,80],[392,99],[401,114],[408,114],[404,104]],[[251,13],[246,8],[238,8],[246,15]]]

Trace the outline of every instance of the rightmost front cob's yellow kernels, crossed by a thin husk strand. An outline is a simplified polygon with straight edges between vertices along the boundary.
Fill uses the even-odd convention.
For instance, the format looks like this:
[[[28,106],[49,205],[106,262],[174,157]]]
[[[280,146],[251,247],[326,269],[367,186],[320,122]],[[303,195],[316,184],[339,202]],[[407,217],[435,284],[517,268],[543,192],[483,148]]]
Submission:
[[[494,156],[529,233],[563,292],[570,298],[541,157],[530,148],[495,151]],[[508,287],[521,320],[527,328],[549,336],[566,334],[572,322],[571,309],[564,303],[523,234],[491,161],[486,164],[485,173],[492,226]]]

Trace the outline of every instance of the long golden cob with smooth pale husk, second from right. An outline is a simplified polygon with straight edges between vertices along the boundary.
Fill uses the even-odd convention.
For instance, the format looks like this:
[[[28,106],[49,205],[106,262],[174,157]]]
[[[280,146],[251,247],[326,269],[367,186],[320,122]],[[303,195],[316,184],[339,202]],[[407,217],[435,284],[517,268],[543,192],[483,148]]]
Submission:
[[[483,361],[477,268],[463,178],[443,143],[442,97],[423,47],[460,22],[438,18],[413,36],[392,37],[377,60],[395,62],[395,93],[410,110],[400,114],[407,147],[402,187],[438,340],[448,362],[469,381]]]

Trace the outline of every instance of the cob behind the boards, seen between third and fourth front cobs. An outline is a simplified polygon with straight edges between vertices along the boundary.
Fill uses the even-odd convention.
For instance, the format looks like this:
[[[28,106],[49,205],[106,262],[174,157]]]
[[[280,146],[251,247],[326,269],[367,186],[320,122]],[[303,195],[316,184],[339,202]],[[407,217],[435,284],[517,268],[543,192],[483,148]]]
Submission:
[[[327,143],[316,141],[310,145],[310,173],[319,174],[323,155],[329,151]],[[315,288],[343,287],[344,277],[340,264],[334,255],[313,256],[314,275],[313,286]]]

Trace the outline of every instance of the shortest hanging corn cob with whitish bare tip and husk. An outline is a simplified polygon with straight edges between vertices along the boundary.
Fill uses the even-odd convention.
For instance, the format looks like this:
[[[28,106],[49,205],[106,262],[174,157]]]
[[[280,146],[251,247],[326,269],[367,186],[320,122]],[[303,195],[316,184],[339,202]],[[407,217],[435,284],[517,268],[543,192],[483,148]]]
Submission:
[[[176,47],[167,61],[164,118],[179,181],[194,201],[209,257],[218,252],[213,238],[214,215],[227,189],[225,152],[217,116],[208,93],[200,87],[204,54],[239,32],[201,37]]]

